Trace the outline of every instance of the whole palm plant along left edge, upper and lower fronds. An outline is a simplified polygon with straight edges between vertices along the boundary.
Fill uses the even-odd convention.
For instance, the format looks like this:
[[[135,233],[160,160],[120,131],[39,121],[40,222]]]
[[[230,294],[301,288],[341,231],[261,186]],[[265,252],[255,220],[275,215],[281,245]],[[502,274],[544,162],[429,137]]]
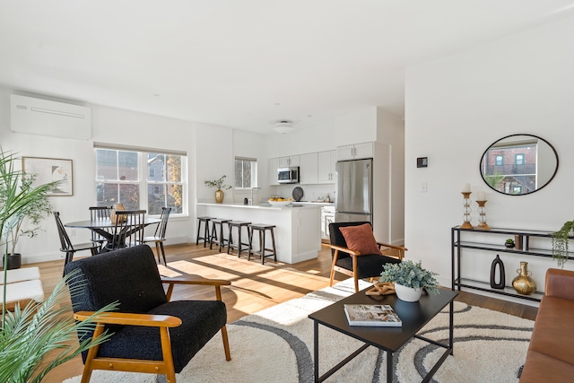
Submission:
[[[17,158],[10,152],[0,149],[0,239],[4,242],[4,284],[2,286],[2,322],[0,323],[0,381],[7,383],[39,383],[46,374],[58,365],[69,361],[92,345],[106,341],[109,334],[96,339],[87,338],[75,343],[76,335],[84,335],[95,328],[93,317],[105,311],[115,309],[116,303],[101,309],[86,322],[76,322],[71,315],[72,309],[65,289],[68,280],[74,274],[68,274],[57,283],[52,294],[42,303],[31,301],[25,308],[16,304],[13,312],[6,311],[7,262],[10,241],[21,234],[22,220],[28,216],[42,213],[48,207],[45,199],[48,191],[57,182],[32,187],[32,180],[26,178],[21,170],[14,169]],[[40,203],[40,207],[34,206]],[[43,206],[43,207],[42,207]],[[31,214],[31,215],[27,215]],[[14,235],[15,237],[11,237]],[[12,242],[13,243],[13,242]],[[13,245],[10,245],[13,246]],[[69,286],[70,294],[83,286],[74,283]],[[54,354],[54,350],[59,352]],[[48,354],[52,355],[47,359]]]

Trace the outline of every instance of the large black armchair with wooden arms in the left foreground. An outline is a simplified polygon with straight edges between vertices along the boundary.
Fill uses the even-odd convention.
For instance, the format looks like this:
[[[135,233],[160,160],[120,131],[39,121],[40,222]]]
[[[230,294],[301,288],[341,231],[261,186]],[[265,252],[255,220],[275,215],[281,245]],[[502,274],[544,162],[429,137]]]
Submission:
[[[74,269],[82,271],[70,281],[81,286],[72,296],[75,319],[85,320],[106,304],[119,302],[119,312],[100,316],[93,334],[79,335],[82,341],[105,328],[113,333],[108,342],[82,354],[83,383],[90,380],[92,370],[164,374],[168,382],[175,383],[176,372],[220,329],[225,359],[230,361],[227,311],[221,293],[221,286],[229,285],[229,281],[162,280],[147,245],[79,259],[65,265],[65,274]],[[167,293],[162,283],[169,284]],[[217,300],[170,302],[175,283],[213,285]]]

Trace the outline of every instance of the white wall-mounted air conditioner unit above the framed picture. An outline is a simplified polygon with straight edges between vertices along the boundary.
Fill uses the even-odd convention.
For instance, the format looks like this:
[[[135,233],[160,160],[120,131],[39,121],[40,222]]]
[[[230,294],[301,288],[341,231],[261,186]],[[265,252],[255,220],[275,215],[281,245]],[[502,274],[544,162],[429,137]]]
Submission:
[[[91,109],[79,105],[11,94],[10,121],[16,133],[91,138]]]

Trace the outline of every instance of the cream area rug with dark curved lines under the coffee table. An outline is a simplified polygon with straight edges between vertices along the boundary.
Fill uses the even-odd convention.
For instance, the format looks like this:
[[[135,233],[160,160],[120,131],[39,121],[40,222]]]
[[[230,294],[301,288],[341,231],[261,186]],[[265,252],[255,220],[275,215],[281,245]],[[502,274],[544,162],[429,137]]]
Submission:
[[[312,382],[313,322],[308,315],[352,292],[352,283],[344,281],[231,323],[227,327],[232,360],[225,361],[221,335],[216,335],[178,374],[178,382]],[[431,381],[517,382],[533,326],[531,320],[455,302],[454,355],[448,356]],[[448,312],[440,313],[420,334],[447,342]],[[325,326],[319,326],[319,336],[320,374],[361,346]],[[413,339],[398,353],[394,381],[421,381],[443,352]],[[65,383],[79,381],[74,377]],[[163,377],[95,371],[91,378],[92,383],[110,381],[155,383]],[[386,354],[369,347],[326,381],[387,381]]]

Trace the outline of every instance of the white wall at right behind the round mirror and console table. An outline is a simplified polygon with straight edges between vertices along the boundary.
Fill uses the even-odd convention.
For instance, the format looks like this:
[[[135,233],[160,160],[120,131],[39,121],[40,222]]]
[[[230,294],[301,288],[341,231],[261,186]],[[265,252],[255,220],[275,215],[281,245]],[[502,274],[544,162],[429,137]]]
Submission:
[[[491,227],[556,231],[574,219],[574,19],[566,19],[406,71],[405,244],[407,257],[450,283],[450,228],[462,223],[462,184],[487,191]],[[493,192],[479,173],[484,150],[505,135],[542,136],[558,152],[560,168],[551,184],[526,196]],[[429,167],[417,169],[417,157]],[[420,191],[428,184],[428,192]],[[475,196],[475,194],[474,194]],[[471,196],[472,199],[472,196]],[[477,223],[474,204],[473,223]],[[488,281],[495,253],[474,259]],[[515,257],[532,263],[544,288],[551,259]],[[566,268],[573,268],[570,261]]]

